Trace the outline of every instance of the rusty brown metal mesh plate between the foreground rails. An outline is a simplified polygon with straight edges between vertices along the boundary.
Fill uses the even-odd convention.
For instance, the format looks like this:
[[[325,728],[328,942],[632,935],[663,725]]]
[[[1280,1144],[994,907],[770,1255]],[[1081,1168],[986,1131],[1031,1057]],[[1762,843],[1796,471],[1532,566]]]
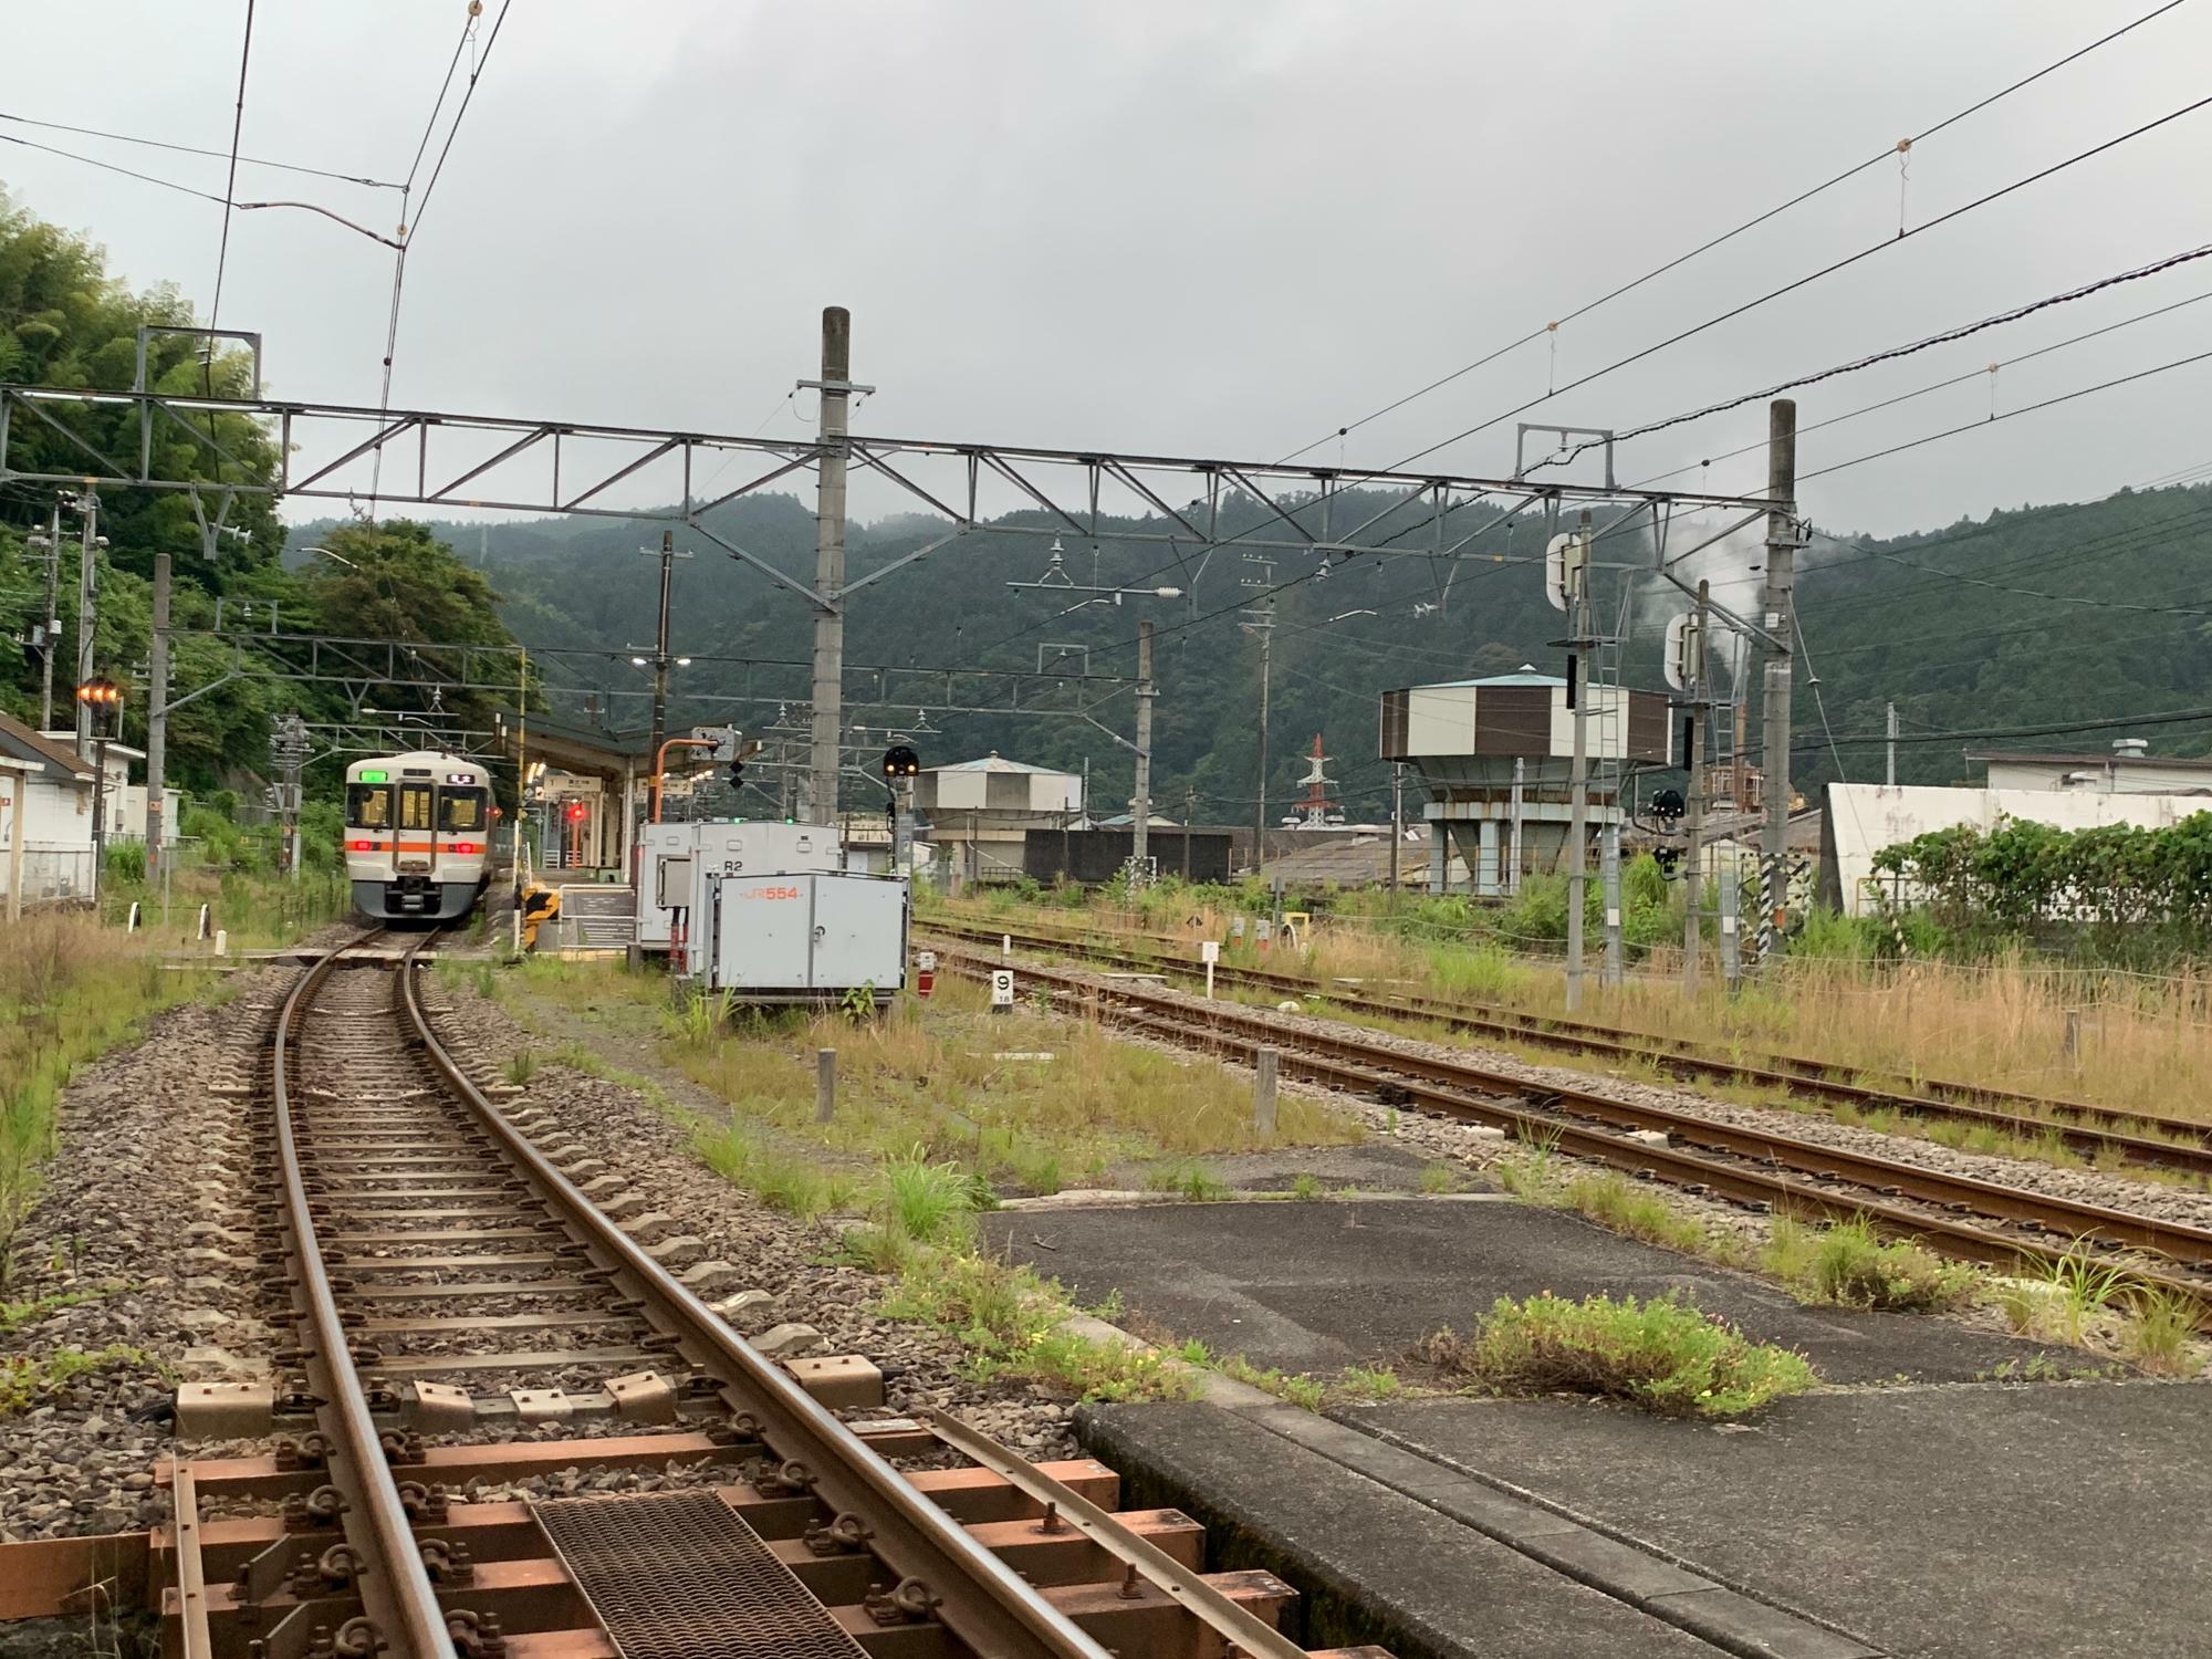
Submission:
[[[622,1659],[863,1659],[714,1493],[531,1504]]]

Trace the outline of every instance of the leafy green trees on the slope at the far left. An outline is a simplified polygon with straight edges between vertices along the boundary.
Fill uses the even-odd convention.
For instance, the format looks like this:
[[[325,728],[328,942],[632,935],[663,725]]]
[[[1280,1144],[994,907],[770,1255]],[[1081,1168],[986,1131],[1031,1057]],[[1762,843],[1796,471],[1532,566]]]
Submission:
[[[137,330],[192,321],[190,305],[173,290],[128,292],[106,274],[100,248],[9,208],[0,195],[0,380],[128,389]],[[148,380],[173,394],[246,396],[250,365],[243,354],[217,354],[206,363],[195,341],[157,334],[148,349]],[[49,409],[91,449],[135,460],[139,431],[128,409]],[[75,471],[88,465],[66,436],[29,418],[15,422],[9,460],[20,471]],[[268,484],[274,478],[276,453],[252,422],[219,416],[204,434],[175,422],[157,425],[153,462],[168,478],[206,480],[201,500],[212,522],[221,513],[226,487]],[[29,648],[29,630],[44,611],[49,580],[46,555],[27,538],[51,526],[55,498],[51,484],[0,484],[0,630],[9,635],[7,657],[0,659],[0,708],[27,721],[35,721],[40,712],[40,659]],[[272,615],[285,633],[453,644],[507,639],[482,577],[418,526],[396,520],[374,529],[325,524],[319,540],[338,557],[316,557],[305,568],[288,571],[279,560],[285,531],[268,495],[237,491],[223,524],[226,533],[215,538],[210,557],[186,493],[113,487],[100,493],[97,529],[108,544],[104,551],[95,549],[95,670],[124,684],[124,739],[144,743],[146,732],[150,577],[159,551],[170,553],[175,571],[170,695],[181,699],[223,681],[219,690],[192,697],[170,717],[170,783],[197,792],[246,785],[268,772],[272,717],[299,712],[310,721],[327,721],[347,712],[338,684],[296,677],[307,666],[305,650],[252,637],[254,630],[268,630]],[[75,719],[77,549],[80,518],[66,511],[55,584],[62,622],[62,650],[53,670],[58,726]],[[221,639],[210,637],[219,597],[226,630]],[[383,701],[387,712],[407,706]],[[462,717],[487,714],[484,703],[458,697],[447,699],[447,710]],[[484,726],[487,719],[471,723]],[[332,787],[341,763],[316,765],[310,785]]]

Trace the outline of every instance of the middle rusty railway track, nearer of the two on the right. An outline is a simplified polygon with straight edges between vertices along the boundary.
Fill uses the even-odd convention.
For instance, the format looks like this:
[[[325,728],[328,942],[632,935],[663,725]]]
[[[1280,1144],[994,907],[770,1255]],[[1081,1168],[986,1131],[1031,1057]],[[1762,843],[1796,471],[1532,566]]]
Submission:
[[[969,975],[1000,962],[995,951],[958,945],[945,953]],[[1473,1060],[1409,1053],[1352,1026],[1316,1031],[1272,1011],[1042,964],[1022,964],[1020,973],[1124,1029],[1245,1062],[1263,1046],[1276,1048],[1287,1077],[1548,1141],[1694,1194],[1820,1219],[1863,1217],[1882,1232],[1993,1267],[2055,1263],[2084,1250],[2108,1254],[2132,1281],[2185,1296],[2199,1325],[2212,1329],[2212,1232],[2203,1228],[1719,1124],[1599,1088],[1537,1086]],[[1663,1144],[1648,1139],[1652,1130]]]

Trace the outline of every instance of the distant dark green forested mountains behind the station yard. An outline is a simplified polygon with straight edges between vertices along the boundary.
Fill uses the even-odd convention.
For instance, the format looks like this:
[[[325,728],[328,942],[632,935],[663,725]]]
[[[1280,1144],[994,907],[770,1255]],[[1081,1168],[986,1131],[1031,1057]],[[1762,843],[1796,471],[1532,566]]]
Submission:
[[[1380,507],[1380,500],[1376,502]],[[1006,520],[1020,524],[1015,515]],[[814,560],[812,502],[772,495],[717,518],[732,540],[807,575]],[[476,555],[482,544],[489,577],[504,595],[509,626],[531,644],[597,648],[599,657],[564,657],[546,666],[553,706],[582,712],[584,688],[615,726],[646,719],[646,677],[628,666],[628,648],[653,639],[653,560],[659,526],[646,522],[538,522],[478,531],[447,526]],[[856,524],[852,571],[863,573],[933,535],[911,520]],[[1354,814],[1383,814],[1389,768],[1376,759],[1376,692],[1425,679],[1486,675],[1537,664],[1562,670],[1555,644],[1564,619],[1542,595],[1533,564],[1500,564],[1491,555],[1533,560],[1540,520],[1482,542],[1482,555],[1455,568],[1427,557],[1354,560],[1325,580],[1312,562],[1281,557],[1276,582],[1307,577],[1281,593],[1274,633],[1270,719],[1270,807],[1287,805],[1305,772],[1316,732],[1334,757],[1332,776]],[[1051,535],[978,535],[907,566],[856,595],[847,628],[852,664],[998,664],[1035,668],[1040,644],[1091,648],[1099,672],[1126,675],[1135,661],[1137,619],[1159,630],[1157,792],[1161,810],[1179,812],[1194,790],[1201,818],[1243,821],[1254,794],[1259,723],[1259,639],[1241,628],[1241,604],[1256,595],[1239,586],[1261,571],[1234,546],[1214,553],[1203,573],[1197,557],[1170,562],[1155,546],[1104,542],[1064,544],[1075,582],[1183,586],[1183,599],[1124,599],[1068,613],[1084,595],[1055,597],[1009,588],[1046,568]],[[675,686],[692,695],[765,692],[803,697],[805,672],[770,675],[737,661],[803,661],[812,619],[801,599],[745,571],[701,538],[679,531],[695,557],[677,566],[675,650],[695,664]],[[1648,557],[1621,538],[1615,557]],[[1734,544],[1732,544],[1734,546]],[[1741,555],[1756,557],[1756,553]],[[1796,770],[1807,787],[1836,774],[1827,732],[1838,739],[1847,774],[1878,779],[1878,743],[1851,741],[1882,730],[1882,703],[1900,708],[1907,741],[1898,776],[1951,783],[1971,774],[1964,737],[1982,730],[2128,719],[2212,703],[2212,487],[2121,491],[2101,502],[1993,513],[1927,535],[1889,542],[1816,535],[1801,555],[1801,617],[1816,690],[1796,699]],[[1736,606],[1756,588],[1745,566],[1712,564],[1714,593]],[[1621,604],[1621,584],[1630,584]],[[1659,626],[1679,608],[1655,577],[1615,571],[1601,580],[1601,619],[1630,617],[1628,675],[1659,684]],[[1079,666],[1079,657],[1046,653],[1046,661]],[[1752,730],[1756,732],[1756,666]],[[909,681],[911,684],[911,681]],[[1801,679],[1805,686],[1805,679]],[[874,701],[874,679],[854,672],[847,699]],[[964,684],[964,690],[978,690]],[[1097,719],[1130,732],[1133,699],[1110,688],[1071,686],[1062,703],[1097,703]],[[936,701],[936,699],[933,699]],[[1825,726],[1823,726],[1825,710]],[[774,703],[739,708],[739,723],[765,723]],[[675,721],[732,717],[712,701],[677,703]],[[880,726],[914,712],[872,710],[852,719]],[[1128,796],[1128,752],[1068,717],[947,717],[929,737],[925,761],[969,759],[1000,750],[1046,765],[1082,770],[1088,759],[1095,801]],[[1949,732],[1929,741],[1931,732]],[[1997,739],[2022,745],[2101,748],[2121,728],[2075,734]],[[2146,726],[2161,752],[2203,752],[2212,721]]]

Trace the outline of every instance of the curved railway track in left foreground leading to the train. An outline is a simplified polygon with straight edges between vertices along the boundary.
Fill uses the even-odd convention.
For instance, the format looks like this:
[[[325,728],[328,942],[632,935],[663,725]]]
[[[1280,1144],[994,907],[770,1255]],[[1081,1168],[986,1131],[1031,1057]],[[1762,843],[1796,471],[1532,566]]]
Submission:
[[[261,1261],[290,1310],[265,1455],[179,1460],[157,1562],[186,1659],[1303,1655],[1265,1573],[1203,1573],[1102,1464],[951,1418],[847,1427],[741,1340],[635,1201],[440,1042],[420,945],[369,933],[276,1011]],[[602,1203],[630,1217],[619,1225]],[[635,1234],[635,1237],[633,1237]],[[535,1407],[580,1411],[538,1438]],[[179,1400],[179,1433],[184,1431]],[[911,1469],[907,1462],[958,1467]],[[639,1495],[462,1502],[467,1482],[684,1467]],[[591,1482],[584,1482],[586,1491]],[[1380,1650],[1336,1650],[1383,1659]]]

